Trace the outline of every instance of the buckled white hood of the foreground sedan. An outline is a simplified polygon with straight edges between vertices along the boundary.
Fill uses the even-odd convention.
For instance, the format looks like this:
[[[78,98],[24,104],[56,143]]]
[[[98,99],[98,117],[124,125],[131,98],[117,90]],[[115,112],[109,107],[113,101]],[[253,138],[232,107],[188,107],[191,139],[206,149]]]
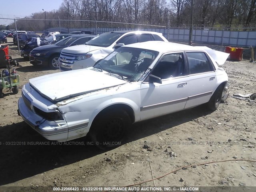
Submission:
[[[29,80],[30,86],[44,98],[57,103],[81,94],[118,86],[125,80],[90,69],[72,70],[44,75]]]

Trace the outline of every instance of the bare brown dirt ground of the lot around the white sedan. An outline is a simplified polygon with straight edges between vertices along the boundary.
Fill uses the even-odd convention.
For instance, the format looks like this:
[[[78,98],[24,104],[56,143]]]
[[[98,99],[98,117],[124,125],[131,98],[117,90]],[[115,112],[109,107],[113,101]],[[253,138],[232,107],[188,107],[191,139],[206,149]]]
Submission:
[[[8,44],[22,65],[15,67],[20,89],[30,78],[60,72],[32,66],[17,55],[11,38]],[[255,62],[226,61],[223,68],[230,95],[256,92]],[[102,151],[88,138],[44,139],[18,116],[20,96],[20,90],[14,95],[5,89],[0,98],[1,186],[127,186],[181,166],[220,160],[234,161],[184,168],[138,186],[256,186],[256,162],[238,161],[256,160],[255,102],[229,97],[215,112],[198,106],[136,123],[122,146]]]

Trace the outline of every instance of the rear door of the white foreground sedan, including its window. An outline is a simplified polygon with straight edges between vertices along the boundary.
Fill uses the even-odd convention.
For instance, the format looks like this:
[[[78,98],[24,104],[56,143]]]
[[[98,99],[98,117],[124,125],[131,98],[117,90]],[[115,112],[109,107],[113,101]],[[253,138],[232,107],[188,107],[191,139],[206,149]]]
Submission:
[[[186,52],[189,66],[189,94],[185,108],[210,100],[216,88],[216,73],[210,58],[204,52]]]

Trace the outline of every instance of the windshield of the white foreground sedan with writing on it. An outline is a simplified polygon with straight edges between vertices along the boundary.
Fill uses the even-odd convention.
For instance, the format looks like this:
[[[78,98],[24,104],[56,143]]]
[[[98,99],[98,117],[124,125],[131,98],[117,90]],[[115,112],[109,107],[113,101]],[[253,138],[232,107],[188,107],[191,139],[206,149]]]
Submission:
[[[117,74],[124,80],[138,81],[159,52],[121,47],[95,64],[94,68]]]

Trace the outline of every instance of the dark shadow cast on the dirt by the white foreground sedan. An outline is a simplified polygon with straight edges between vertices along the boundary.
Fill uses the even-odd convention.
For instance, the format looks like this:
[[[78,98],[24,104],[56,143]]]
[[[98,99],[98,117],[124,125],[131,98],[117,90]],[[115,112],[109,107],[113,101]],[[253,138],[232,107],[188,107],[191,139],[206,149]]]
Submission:
[[[136,123],[131,127],[125,143],[145,138],[209,113],[210,111],[204,109],[204,106],[198,106]],[[0,185],[16,182],[104,152],[95,146],[87,145],[88,141],[89,138],[84,137],[73,140],[72,144],[64,145],[46,140],[25,122],[2,126],[0,127]]]

